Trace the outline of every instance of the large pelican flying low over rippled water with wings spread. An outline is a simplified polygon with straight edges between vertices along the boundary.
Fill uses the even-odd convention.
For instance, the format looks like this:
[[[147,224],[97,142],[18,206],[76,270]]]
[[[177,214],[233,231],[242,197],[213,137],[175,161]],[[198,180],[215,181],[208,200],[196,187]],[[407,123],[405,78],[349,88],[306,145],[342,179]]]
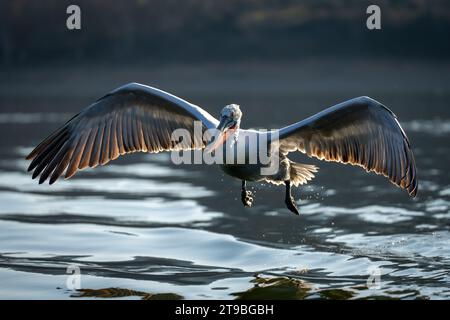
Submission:
[[[299,214],[291,188],[308,183],[318,168],[290,160],[289,153],[295,151],[320,160],[360,166],[367,172],[386,176],[412,197],[417,194],[410,142],[394,113],[369,97],[350,99],[305,120],[271,130],[270,137],[269,131],[240,128],[241,119],[242,111],[236,104],[225,106],[216,119],[175,95],[129,83],[98,99],[44,139],[26,157],[32,160],[28,171],[33,171],[33,179],[39,176],[40,184],[47,179],[53,184],[63,174],[68,179],[77,170],[105,165],[127,153],[200,149],[215,154],[222,148],[225,152],[237,150],[246,135],[256,134],[267,138],[266,144],[244,146],[244,158],[268,147],[269,162],[220,164],[226,174],[242,181],[244,206],[253,204],[246,182],[266,181],[284,185],[287,208]],[[194,128],[196,121],[201,123],[200,132]],[[173,141],[171,133],[176,129],[190,133],[191,141]],[[218,134],[205,135],[209,130],[217,130]],[[271,138],[273,134],[277,139]],[[274,164],[276,171],[262,173],[263,167]]]

